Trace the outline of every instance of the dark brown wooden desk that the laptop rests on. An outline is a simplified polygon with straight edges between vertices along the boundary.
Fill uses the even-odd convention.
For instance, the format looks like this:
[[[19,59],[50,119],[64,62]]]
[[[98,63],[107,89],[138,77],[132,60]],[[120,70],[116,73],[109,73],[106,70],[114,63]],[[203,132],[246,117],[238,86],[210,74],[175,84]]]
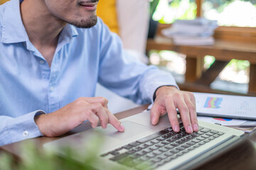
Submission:
[[[144,111],[147,108],[147,106],[148,105],[140,106],[129,111],[117,113],[115,115],[119,119],[126,118],[127,116],[134,115]],[[75,132],[81,132],[83,130],[87,130],[88,128],[90,128],[90,123],[83,123],[67,135],[73,134]],[[42,147],[42,145],[45,144],[46,142],[57,140],[59,138],[60,137],[37,137],[31,140],[35,141],[36,144],[38,144],[38,147]],[[256,135],[253,141],[256,142]],[[22,142],[26,142],[26,140]],[[14,144],[5,145],[3,147],[0,147],[0,149],[2,149],[5,152],[14,154],[14,156],[18,158],[21,155],[21,153],[19,152],[19,146],[22,142],[16,142]],[[220,157],[216,157],[215,159],[212,159],[210,162],[203,164],[203,166],[200,166],[198,169],[256,169],[255,160],[256,149],[255,147],[253,147],[251,142],[246,141],[239,145],[238,147],[235,147],[232,150],[226,152],[225,154],[220,155]]]

